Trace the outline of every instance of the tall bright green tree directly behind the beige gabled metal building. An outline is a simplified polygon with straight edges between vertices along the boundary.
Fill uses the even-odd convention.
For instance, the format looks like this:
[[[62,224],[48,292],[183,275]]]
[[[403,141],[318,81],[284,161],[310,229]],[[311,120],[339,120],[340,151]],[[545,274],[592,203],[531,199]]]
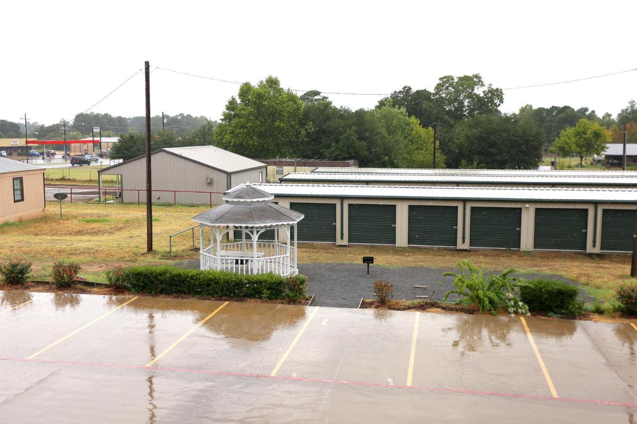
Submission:
[[[299,138],[303,102],[268,76],[254,87],[243,83],[238,97],[225,105],[215,141],[221,148],[248,157],[285,157]]]

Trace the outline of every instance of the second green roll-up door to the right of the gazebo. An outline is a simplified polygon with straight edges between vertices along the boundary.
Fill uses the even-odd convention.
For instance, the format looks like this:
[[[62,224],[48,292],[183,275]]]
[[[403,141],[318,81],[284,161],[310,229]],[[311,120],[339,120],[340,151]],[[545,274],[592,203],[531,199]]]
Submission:
[[[396,205],[349,204],[349,243],[396,244]]]

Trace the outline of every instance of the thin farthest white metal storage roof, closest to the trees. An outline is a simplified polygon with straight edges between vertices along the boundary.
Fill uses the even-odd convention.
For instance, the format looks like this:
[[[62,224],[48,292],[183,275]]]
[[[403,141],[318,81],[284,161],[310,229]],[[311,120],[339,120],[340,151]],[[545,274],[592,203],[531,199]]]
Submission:
[[[339,168],[317,167],[311,173],[415,174],[415,175],[555,175],[555,176],[636,176],[637,171],[538,171],[537,169],[422,169],[422,168]]]

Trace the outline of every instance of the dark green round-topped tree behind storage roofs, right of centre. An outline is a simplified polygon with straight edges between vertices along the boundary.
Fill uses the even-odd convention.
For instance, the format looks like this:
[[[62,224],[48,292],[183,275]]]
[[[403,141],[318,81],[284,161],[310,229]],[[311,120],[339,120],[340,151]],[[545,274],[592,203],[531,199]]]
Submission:
[[[475,115],[455,126],[447,141],[451,167],[533,169],[542,158],[542,134],[517,115]]]

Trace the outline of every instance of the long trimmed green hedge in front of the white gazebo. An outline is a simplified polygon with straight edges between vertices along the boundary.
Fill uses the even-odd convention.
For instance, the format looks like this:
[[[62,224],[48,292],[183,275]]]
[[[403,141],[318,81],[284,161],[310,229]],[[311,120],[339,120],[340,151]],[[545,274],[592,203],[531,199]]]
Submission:
[[[304,276],[242,275],[169,266],[134,266],[120,270],[117,276],[118,283],[133,293],[297,301],[303,299],[307,288]]]

